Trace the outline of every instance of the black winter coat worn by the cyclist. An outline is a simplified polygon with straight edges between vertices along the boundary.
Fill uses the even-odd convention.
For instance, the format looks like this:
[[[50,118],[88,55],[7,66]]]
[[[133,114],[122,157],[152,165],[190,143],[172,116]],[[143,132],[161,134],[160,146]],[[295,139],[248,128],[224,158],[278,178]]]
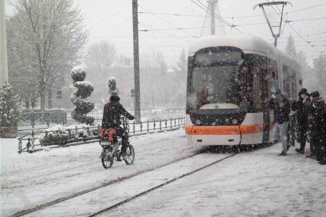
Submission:
[[[121,125],[121,115],[128,119],[133,119],[133,116],[117,102],[109,102],[104,106],[102,128],[115,128]]]

